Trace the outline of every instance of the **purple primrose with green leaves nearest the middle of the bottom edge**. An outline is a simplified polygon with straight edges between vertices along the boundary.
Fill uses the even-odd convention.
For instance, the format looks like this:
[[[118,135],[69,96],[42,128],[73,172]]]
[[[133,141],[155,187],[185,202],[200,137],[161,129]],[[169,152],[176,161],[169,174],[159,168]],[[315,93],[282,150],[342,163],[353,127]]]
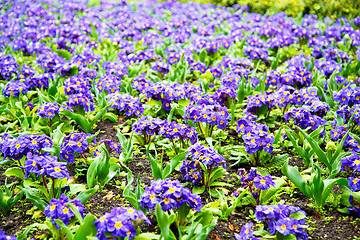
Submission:
[[[140,206],[146,210],[155,209],[155,216],[160,227],[160,239],[176,240],[171,229],[177,229],[179,239],[205,239],[216,221],[209,217],[203,224],[194,223],[191,209],[201,214],[202,201],[199,195],[191,193],[188,188],[181,185],[178,180],[158,179],[152,180],[150,187],[145,187]],[[209,221],[208,221],[209,220]],[[173,226],[173,227],[171,227]],[[199,232],[194,235],[197,229]]]

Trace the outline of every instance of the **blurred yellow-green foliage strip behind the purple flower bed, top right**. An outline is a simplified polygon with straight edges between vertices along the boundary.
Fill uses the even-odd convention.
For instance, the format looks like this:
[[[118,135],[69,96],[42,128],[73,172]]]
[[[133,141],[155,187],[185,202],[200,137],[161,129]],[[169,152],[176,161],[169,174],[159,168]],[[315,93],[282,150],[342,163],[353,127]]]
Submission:
[[[247,5],[250,12],[273,15],[285,12],[297,17],[299,13],[316,14],[319,18],[340,17],[355,18],[360,16],[360,0],[195,0],[201,3],[232,6]]]

